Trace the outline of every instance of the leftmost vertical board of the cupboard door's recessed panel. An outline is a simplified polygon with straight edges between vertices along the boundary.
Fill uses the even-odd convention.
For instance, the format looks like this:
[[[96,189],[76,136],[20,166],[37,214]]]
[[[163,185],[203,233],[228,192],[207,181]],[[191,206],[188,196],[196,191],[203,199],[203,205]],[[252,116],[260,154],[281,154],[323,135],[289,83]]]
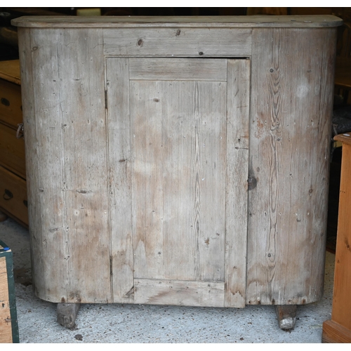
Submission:
[[[162,113],[157,81],[131,81],[135,277],[164,277]]]

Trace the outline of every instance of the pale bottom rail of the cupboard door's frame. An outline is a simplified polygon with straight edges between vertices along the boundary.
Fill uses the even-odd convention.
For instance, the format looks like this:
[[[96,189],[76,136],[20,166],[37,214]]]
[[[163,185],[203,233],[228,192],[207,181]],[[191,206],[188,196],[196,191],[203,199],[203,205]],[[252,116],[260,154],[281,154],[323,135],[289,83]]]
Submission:
[[[134,279],[134,303],[223,307],[224,282]]]

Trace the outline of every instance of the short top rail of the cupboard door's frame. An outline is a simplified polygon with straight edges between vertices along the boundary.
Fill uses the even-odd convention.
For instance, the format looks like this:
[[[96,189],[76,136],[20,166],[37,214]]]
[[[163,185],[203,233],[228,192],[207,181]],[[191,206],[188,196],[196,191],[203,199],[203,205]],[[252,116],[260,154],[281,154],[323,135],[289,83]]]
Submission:
[[[159,81],[227,81],[227,60],[130,58],[129,78]]]

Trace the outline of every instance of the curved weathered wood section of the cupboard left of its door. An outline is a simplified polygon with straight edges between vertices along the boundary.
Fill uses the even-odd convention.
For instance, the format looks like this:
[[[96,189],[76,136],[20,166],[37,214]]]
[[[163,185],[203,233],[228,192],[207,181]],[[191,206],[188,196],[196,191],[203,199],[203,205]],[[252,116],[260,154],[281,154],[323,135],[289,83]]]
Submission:
[[[101,38],[30,29],[20,39],[34,286],[44,300],[111,300]]]

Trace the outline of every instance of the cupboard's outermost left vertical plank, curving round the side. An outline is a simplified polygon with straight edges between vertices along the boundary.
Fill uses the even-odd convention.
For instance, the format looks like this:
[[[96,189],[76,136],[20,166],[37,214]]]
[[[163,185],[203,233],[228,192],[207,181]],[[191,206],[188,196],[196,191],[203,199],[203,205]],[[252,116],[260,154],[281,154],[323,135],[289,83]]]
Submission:
[[[20,29],[19,38],[33,285],[55,302],[67,299],[59,58],[50,45],[59,38],[54,29]]]

